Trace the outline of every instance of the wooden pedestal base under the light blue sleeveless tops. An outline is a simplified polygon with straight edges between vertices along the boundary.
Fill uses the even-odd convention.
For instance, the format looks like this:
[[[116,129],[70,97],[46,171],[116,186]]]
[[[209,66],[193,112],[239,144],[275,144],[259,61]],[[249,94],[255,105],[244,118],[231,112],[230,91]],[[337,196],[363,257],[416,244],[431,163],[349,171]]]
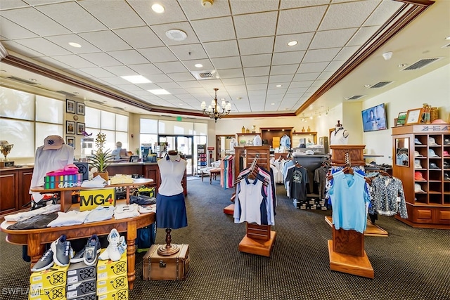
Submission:
[[[364,251],[364,235],[355,230],[336,230],[328,240],[330,270],[374,278],[371,262]]]

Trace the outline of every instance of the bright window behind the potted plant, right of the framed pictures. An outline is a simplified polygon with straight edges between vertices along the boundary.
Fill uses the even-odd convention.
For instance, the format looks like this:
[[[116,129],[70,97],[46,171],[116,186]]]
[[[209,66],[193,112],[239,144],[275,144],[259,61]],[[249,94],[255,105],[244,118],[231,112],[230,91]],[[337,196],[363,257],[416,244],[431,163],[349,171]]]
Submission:
[[[106,112],[93,107],[86,107],[86,132],[92,133],[92,138],[96,138],[97,133],[105,133],[106,143],[104,150],[114,150],[115,143],[121,142],[122,149],[129,149],[128,144],[128,119],[126,115]],[[95,144],[94,144],[94,149]]]

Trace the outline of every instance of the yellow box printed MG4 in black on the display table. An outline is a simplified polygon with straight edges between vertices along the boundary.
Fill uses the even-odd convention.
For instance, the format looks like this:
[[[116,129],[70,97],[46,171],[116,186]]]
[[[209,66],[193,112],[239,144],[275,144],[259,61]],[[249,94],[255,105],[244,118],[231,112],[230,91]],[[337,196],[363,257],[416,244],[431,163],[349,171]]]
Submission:
[[[115,206],[115,188],[92,188],[79,191],[79,211],[92,210],[98,206]]]

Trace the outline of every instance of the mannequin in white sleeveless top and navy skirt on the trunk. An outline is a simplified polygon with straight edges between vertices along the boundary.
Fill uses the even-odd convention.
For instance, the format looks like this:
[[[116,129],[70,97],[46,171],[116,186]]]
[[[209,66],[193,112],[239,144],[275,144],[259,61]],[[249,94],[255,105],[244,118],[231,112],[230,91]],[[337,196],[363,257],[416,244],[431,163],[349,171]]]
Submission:
[[[176,150],[169,150],[167,156],[158,160],[161,184],[156,195],[156,226],[166,228],[166,244],[158,249],[160,255],[170,255],[178,252],[179,247],[171,244],[172,229],[188,226],[186,204],[184,203],[181,179],[184,176],[187,162]]]

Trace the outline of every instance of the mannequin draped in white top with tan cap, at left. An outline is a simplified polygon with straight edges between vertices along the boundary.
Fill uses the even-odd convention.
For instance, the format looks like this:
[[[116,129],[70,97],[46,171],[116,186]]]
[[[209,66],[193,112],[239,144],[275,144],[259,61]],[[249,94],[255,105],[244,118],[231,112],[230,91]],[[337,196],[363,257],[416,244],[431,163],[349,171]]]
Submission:
[[[47,172],[63,169],[68,164],[73,164],[74,148],[65,145],[63,138],[60,136],[47,136],[44,139],[44,145],[36,150],[34,156],[34,169],[31,178],[30,187],[44,185],[44,177]],[[41,202],[44,195],[33,193],[32,209],[45,206]]]

